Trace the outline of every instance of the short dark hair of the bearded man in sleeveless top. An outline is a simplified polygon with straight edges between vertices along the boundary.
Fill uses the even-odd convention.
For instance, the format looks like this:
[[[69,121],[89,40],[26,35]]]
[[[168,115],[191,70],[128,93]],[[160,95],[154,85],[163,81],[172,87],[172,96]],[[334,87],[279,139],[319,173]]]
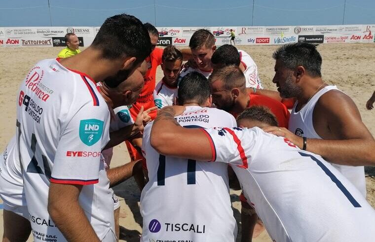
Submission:
[[[316,49],[318,44],[289,43],[279,47],[273,52],[272,57],[291,70],[303,66],[312,77],[321,77],[322,57]]]

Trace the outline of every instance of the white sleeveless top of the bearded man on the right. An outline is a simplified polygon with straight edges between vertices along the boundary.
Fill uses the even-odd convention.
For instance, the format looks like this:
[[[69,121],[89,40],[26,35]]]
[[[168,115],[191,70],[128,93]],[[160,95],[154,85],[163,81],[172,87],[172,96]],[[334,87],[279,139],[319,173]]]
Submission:
[[[330,90],[338,90],[336,86],[329,85],[325,86],[319,90],[304,107],[296,112],[296,106],[298,102],[295,103],[289,118],[289,130],[295,134],[311,138],[311,139],[322,139],[315,131],[312,115],[314,112],[314,107],[318,102],[319,98],[326,92]],[[366,197],[366,179],[365,179],[365,168],[364,166],[350,166],[350,165],[340,165],[332,164],[338,171],[340,171],[349,181],[351,181],[354,186]]]

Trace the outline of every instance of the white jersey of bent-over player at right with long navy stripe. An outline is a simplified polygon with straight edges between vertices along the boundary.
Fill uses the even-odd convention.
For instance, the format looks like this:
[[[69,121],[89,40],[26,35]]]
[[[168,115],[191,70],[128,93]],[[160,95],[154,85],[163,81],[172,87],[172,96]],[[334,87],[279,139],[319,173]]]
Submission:
[[[272,240],[374,241],[374,208],[320,156],[258,127],[202,131],[212,160],[232,164]]]

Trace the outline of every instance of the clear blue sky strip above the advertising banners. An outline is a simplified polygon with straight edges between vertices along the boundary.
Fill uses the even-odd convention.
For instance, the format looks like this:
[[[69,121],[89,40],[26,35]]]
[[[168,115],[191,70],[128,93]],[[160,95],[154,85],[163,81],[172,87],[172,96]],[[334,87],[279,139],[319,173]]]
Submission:
[[[123,12],[157,27],[375,23],[375,0],[49,0],[49,6],[0,0],[0,26],[100,26]]]

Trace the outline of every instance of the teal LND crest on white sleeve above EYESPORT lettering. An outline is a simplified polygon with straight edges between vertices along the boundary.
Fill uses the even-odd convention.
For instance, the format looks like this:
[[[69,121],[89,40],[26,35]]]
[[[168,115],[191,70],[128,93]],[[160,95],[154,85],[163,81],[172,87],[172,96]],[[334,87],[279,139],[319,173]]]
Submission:
[[[104,121],[97,119],[81,120],[79,123],[79,138],[83,144],[92,146],[100,140],[103,133]]]

